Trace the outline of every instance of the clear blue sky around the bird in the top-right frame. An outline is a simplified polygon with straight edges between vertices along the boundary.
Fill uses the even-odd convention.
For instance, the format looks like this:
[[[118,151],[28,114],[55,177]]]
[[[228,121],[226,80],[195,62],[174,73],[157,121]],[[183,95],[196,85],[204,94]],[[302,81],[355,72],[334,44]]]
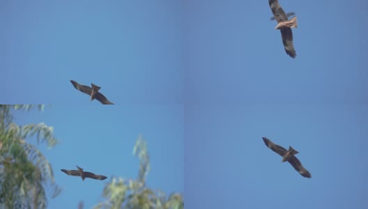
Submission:
[[[298,17],[296,59],[268,1],[190,2],[191,102],[367,102],[365,1],[279,1]]]

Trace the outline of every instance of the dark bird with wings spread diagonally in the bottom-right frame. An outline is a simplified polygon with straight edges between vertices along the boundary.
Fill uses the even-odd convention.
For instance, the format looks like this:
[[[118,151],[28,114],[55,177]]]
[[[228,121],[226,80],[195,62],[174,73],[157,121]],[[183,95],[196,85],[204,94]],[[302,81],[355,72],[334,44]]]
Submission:
[[[270,148],[275,153],[282,156],[282,162],[286,162],[286,161],[289,162],[294,167],[294,169],[296,169],[296,171],[300,173],[300,175],[306,178],[312,178],[311,173],[309,173],[307,169],[302,167],[302,164],[300,163],[298,158],[296,158],[295,155],[298,154],[297,150],[294,150],[291,146],[289,146],[289,150],[286,150],[282,146],[273,144],[273,142],[270,141],[270,139],[267,139],[266,137],[262,137],[262,139],[264,143],[266,144],[266,146],[268,146],[268,148]]]

